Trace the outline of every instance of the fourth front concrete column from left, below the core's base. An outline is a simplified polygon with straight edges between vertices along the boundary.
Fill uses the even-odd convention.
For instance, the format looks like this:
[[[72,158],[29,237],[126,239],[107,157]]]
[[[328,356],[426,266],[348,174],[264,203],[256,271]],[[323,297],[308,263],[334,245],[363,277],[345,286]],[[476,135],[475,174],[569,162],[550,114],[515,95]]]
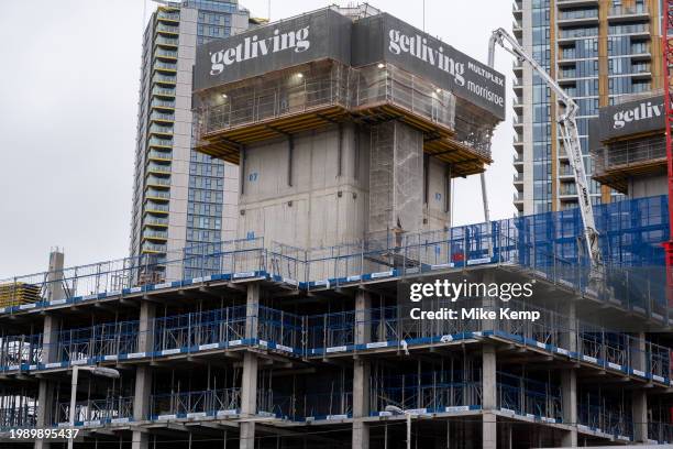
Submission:
[[[355,294],[355,344],[369,341],[369,310],[372,298],[367,292]],[[353,448],[369,448],[369,427],[361,418],[369,416],[369,362],[355,359],[353,363]]]

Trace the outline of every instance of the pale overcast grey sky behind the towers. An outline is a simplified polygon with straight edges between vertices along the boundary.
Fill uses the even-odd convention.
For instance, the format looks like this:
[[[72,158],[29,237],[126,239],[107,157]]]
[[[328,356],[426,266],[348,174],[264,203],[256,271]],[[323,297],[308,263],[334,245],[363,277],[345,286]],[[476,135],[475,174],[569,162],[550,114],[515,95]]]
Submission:
[[[128,255],[144,22],[150,0],[23,0],[0,14],[0,278]],[[334,1],[272,0],[277,20]],[[351,1],[336,1],[346,6]],[[423,28],[421,0],[372,2]],[[268,0],[242,2],[267,17]],[[426,30],[486,62],[490,31],[511,28],[511,2],[426,0]],[[507,121],[487,183],[493,218],[514,215],[511,57]],[[455,222],[483,221],[478,176],[459,180]]]

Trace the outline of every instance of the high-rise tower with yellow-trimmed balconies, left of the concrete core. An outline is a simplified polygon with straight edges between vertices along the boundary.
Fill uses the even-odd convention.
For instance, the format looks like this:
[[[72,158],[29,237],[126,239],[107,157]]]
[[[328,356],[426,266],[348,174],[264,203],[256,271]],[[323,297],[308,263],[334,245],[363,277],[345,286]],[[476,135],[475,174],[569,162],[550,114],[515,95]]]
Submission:
[[[249,19],[236,0],[162,1],[150,18],[137,113],[132,256],[161,261],[183,248],[234,237],[238,168],[192,151],[191,77],[197,45],[246,29]]]

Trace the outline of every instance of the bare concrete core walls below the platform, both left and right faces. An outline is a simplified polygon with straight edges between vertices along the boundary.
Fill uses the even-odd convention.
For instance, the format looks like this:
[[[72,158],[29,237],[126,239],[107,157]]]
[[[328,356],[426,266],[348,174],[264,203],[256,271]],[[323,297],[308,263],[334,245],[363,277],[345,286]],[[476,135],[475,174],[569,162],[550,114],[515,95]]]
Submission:
[[[390,125],[393,129],[406,127]],[[385,157],[373,161],[373,135],[380,129],[356,131],[355,124],[344,123],[341,132],[340,138],[339,127],[334,125],[294,135],[291,171],[289,138],[244,150],[238,238],[264,237],[267,247],[272,242],[299,248],[331,247],[395,228],[394,210],[397,209],[411,223],[402,223],[408,232],[449,226],[450,180],[445,163],[430,157],[426,182],[422,150],[418,145],[409,147],[408,139],[395,142],[395,133],[390,133],[390,161]],[[412,173],[408,173],[408,167],[396,173],[393,158],[409,152],[418,156]],[[386,166],[382,169],[382,165]],[[375,166],[378,169],[371,169]],[[379,175],[387,182],[380,182]],[[379,184],[376,198],[369,195],[373,183]],[[426,183],[428,202],[423,205]],[[400,194],[400,189],[409,191]],[[389,213],[373,218],[371,210],[375,207]]]

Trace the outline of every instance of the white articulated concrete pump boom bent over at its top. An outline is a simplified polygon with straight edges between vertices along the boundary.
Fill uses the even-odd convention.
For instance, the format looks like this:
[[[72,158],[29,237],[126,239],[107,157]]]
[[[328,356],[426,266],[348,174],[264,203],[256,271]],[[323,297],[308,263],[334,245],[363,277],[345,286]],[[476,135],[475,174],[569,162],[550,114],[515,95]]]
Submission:
[[[506,42],[510,45],[508,47]],[[598,231],[594,220],[594,208],[592,206],[592,197],[588,190],[586,180],[586,171],[582,158],[582,146],[580,143],[580,133],[577,131],[577,111],[578,107],[571,97],[569,97],[561,86],[547,73],[547,70],[538,64],[536,59],[529,56],[526,51],[519,45],[516,39],[509,35],[504,29],[497,29],[490,36],[488,45],[488,64],[493,67],[495,62],[495,46],[500,45],[505,51],[515,55],[519,61],[525,61],[544,79],[547,85],[556,95],[556,99],[561,106],[558,114],[559,131],[567,158],[575,176],[575,185],[577,186],[577,197],[580,202],[580,212],[584,225],[584,238],[592,265],[592,273],[596,277],[603,273],[603,258],[600,248],[598,247]]]

